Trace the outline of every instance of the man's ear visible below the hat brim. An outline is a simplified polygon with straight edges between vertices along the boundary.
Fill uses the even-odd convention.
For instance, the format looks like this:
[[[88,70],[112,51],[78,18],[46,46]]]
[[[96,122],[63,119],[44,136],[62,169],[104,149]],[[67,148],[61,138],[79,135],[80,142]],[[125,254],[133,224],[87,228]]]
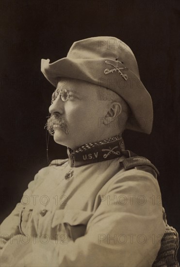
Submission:
[[[110,108],[107,112],[107,114],[104,117],[104,124],[108,124],[111,121],[113,121],[115,118],[117,118],[122,112],[122,106],[121,103],[117,101],[113,101],[110,105]]]

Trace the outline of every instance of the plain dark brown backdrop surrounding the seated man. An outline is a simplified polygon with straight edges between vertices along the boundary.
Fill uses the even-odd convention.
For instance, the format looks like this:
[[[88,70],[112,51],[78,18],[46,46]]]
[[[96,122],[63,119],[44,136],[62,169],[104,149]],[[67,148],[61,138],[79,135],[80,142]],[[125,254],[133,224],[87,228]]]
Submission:
[[[53,62],[65,57],[74,41],[115,36],[134,52],[154,105],[152,134],[126,131],[126,148],[159,169],[168,223],[180,233],[180,1],[2,0],[0,12],[1,221],[35,173],[48,165],[44,125],[54,88],[40,71],[41,58]],[[66,158],[66,148],[52,137],[49,158]]]

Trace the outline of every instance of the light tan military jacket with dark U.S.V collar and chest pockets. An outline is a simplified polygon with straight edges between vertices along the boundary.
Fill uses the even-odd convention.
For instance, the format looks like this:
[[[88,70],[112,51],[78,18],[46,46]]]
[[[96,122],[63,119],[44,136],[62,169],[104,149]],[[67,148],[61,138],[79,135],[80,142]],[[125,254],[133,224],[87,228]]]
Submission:
[[[1,224],[4,248],[17,237],[17,248],[31,246],[13,266],[152,266],[165,232],[156,169],[119,144],[69,149],[35,175]]]

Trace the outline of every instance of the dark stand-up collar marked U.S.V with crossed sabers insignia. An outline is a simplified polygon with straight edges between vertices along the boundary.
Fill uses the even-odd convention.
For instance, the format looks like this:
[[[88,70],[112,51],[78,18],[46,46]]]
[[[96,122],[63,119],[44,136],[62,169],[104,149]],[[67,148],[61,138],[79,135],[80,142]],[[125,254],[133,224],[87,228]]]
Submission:
[[[121,157],[124,150],[123,138],[117,134],[99,142],[84,144],[76,150],[67,148],[67,154],[70,167],[79,167]]]

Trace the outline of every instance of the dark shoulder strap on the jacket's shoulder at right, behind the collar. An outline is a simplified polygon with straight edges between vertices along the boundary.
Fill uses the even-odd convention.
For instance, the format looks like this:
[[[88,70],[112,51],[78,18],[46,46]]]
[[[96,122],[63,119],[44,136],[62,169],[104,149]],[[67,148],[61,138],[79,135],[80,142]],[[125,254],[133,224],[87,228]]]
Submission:
[[[130,170],[135,168],[147,171],[150,174],[152,174],[156,179],[157,175],[159,175],[158,169],[147,158],[138,155],[134,156],[134,153],[133,156],[131,156],[130,153],[130,157],[125,158],[124,160],[119,162],[119,164],[121,167],[124,167],[125,170]]]

